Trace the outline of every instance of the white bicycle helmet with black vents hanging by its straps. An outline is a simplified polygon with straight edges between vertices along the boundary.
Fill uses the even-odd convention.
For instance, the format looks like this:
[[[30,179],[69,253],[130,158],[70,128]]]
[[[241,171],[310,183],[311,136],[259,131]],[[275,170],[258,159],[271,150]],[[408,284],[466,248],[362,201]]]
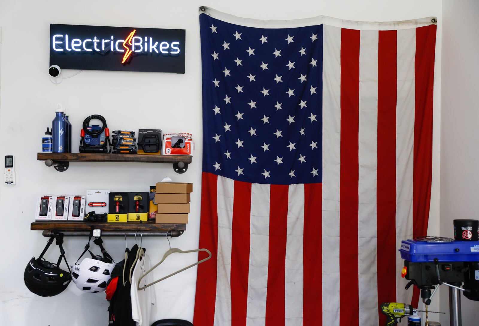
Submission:
[[[75,265],[71,268],[71,279],[81,291],[90,293],[103,292],[106,290],[106,284],[111,278],[112,270],[116,264],[112,257],[106,252],[105,248],[103,248],[103,241],[100,237],[96,238],[94,243],[100,246],[103,257],[95,256],[89,250],[90,240],[91,235],[80,258],[87,251],[90,253],[91,258],[83,259],[80,264],[78,264],[78,260],[80,260],[80,258],[78,258]]]

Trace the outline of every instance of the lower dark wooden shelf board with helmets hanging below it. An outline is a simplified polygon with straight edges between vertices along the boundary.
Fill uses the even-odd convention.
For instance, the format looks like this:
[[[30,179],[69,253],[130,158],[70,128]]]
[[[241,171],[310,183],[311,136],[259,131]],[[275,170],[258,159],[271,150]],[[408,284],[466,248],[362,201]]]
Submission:
[[[34,221],[30,230],[90,231],[91,228],[102,231],[185,231],[186,224],[157,224],[154,222],[82,222],[82,221]]]

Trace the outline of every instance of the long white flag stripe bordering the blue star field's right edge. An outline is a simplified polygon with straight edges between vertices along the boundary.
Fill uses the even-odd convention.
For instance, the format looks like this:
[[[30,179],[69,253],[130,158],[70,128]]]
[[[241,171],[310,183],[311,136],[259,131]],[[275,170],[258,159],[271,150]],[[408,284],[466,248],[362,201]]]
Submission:
[[[323,25],[323,40],[322,325],[339,326],[341,28]]]

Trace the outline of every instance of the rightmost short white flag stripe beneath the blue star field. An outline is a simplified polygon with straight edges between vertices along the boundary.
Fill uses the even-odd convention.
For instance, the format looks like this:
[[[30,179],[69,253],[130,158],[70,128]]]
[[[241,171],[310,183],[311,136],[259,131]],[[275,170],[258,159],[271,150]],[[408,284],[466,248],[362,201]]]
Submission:
[[[285,326],[303,322],[304,185],[289,185],[285,262]]]

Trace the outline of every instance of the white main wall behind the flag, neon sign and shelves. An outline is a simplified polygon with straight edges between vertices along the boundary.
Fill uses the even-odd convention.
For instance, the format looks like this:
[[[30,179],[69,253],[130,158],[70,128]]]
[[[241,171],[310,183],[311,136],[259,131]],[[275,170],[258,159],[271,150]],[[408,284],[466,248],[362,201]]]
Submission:
[[[30,293],[23,285],[23,269],[32,256],[39,255],[46,242],[40,232],[29,230],[35,198],[42,193],[84,193],[89,188],[136,191],[148,189],[149,185],[166,175],[175,181],[193,182],[190,223],[186,233],[171,243],[183,249],[197,247],[202,162],[200,5],[257,19],[328,15],[349,20],[399,21],[437,16],[439,26],[442,23],[441,3],[435,0],[0,0],[0,156],[15,155],[18,182],[15,186],[0,186],[0,219],[4,234],[0,263],[2,325],[106,324],[107,302],[103,295],[84,294],[70,285],[56,297],[41,298]],[[184,28],[187,42],[186,73],[83,71],[55,86],[46,74],[49,23]],[[439,232],[440,48],[441,28],[438,28],[430,234]],[[68,76],[73,72],[65,71],[64,74]],[[124,97],[125,85],[131,96]],[[83,119],[91,114],[102,114],[111,129],[136,130],[145,127],[161,128],[164,132],[192,132],[196,142],[193,163],[183,175],[174,174],[171,165],[150,163],[72,163],[67,172],[56,172],[37,162],[36,153],[40,150],[39,138],[45,128],[51,125],[55,105],[59,102],[69,109],[75,148],[79,144],[78,133]],[[85,238],[67,239],[65,246],[70,263],[74,263],[79,256],[85,241]],[[133,239],[128,242],[132,245]],[[144,239],[143,243],[152,260],[159,259],[168,247],[164,238]],[[121,238],[107,238],[105,244],[117,259],[120,259],[124,245],[124,239]],[[51,250],[47,257],[53,259],[57,256],[56,250]],[[171,258],[156,275],[165,275],[196,259],[194,255]],[[155,319],[193,318],[195,273],[196,270],[191,269],[156,285],[159,304]]]

